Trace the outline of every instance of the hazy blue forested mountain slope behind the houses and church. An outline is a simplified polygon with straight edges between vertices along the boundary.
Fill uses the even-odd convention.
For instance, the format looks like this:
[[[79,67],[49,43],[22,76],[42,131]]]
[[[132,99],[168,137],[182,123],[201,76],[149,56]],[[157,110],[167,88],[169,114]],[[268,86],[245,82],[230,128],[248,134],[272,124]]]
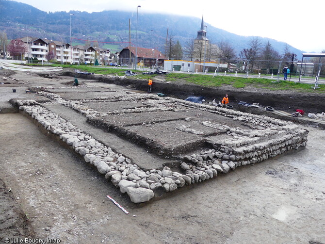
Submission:
[[[129,19],[131,19],[131,43],[135,45],[136,13],[121,11],[103,11],[87,13],[71,11],[71,29],[73,44],[85,44],[85,41],[96,41],[99,47],[119,51],[129,44]],[[53,40],[70,41],[70,13],[47,13],[25,3],[10,0],[0,0],[0,28],[5,29],[8,39],[28,36],[48,38]],[[248,48],[250,36],[241,36],[215,28],[209,23],[207,37],[211,43],[225,41],[239,53]],[[195,38],[200,29],[201,19],[189,16],[165,14],[148,14],[139,12],[138,15],[138,47],[164,50],[167,28],[168,36],[173,36],[181,46],[186,41]],[[27,27],[27,33],[26,33]],[[62,39],[61,39],[62,38]],[[262,38],[269,41],[273,49],[283,54],[286,43],[274,39]],[[124,42],[124,43],[123,43]],[[94,44],[94,43],[90,43]],[[302,51],[290,47],[290,51],[301,57]]]

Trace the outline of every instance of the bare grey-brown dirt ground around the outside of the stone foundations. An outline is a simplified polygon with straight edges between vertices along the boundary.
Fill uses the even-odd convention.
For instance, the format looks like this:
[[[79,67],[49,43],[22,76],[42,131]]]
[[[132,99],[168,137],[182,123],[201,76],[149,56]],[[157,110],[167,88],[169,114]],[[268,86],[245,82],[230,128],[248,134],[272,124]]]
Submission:
[[[23,80],[26,74],[15,77]],[[29,81],[49,85],[46,78]],[[28,117],[0,114],[0,179],[19,197],[35,236],[65,244],[320,244],[325,243],[325,130],[308,130],[303,150],[138,206]],[[1,201],[1,209],[5,204]],[[10,237],[4,235],[5,220],[0,214],[1,241]]]

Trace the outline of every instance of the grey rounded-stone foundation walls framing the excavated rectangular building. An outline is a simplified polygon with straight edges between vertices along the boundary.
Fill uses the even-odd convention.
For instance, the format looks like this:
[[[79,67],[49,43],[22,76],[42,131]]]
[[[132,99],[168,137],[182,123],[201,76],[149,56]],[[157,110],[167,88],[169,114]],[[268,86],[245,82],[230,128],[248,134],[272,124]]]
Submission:
[[[138,165],[132,163],[130,159],[99,143],[95,138],[85,134],[81,129],[61,118],[58,114],[41,107],[36,101],[17,100],[20,110],[31,115],[46,130],[58,135],[76,153],[80,154],[86,163],[96,167],[100,174],[105,175],[105,179],[110,180],[115,187],[119,187],[121,193],[126,192],[134,203],[149,201],[156,193],[161,191],[173,192],[186,185],[216,178],[218,173],[226,174],[240,166],[260,163],[307,144],[308,130],[303,130],[292,122],[204,104],[194,104],[176,98],[126,94],[110,98],[97,97],[81,101],[66,101],[56,94],[48,92],[40,92],[40,94],[91,117],[105,116],[109,113],[99,113],[89,109],[82,103],[105,100],[142,100],[149,106],[153,106],[152,103],[154,102],[155,108],[151,108],[156,109],[156,111],[175,110],[175,106],[182,105],[228,116],[234,120],[247,122],[250,125],[250,130],[244,130],[204,121],[201,123],[203,126],[227,133],[227,139],[223,140],[222,143],[213,143],[212,149],[183,156],[180,163],[183,173],[172,171],[167,166],[163,167],[162,170],[152,169],[145,172]],[[171,107],[170,104],[174,106]],[[148,111],[148,108],[123,110],[116,113],[134,113],[135,110]],[[257,128],[264,129],[257,130]],[[190,133],[203,133],[186,126],[180,126],[176,129]]]

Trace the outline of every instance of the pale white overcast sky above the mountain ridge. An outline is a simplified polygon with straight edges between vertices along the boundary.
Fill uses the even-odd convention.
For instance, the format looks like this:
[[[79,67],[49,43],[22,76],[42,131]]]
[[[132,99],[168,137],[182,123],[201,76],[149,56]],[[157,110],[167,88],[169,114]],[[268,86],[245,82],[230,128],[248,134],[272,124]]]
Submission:
[[[239,35],[269,37],[307,52],[325,49],[324,0],[16,0],[46,12],[104,10],[195,16]],[[202,3],[198,5],[197,3]],[[209,30],[207,33],[209,37]]]

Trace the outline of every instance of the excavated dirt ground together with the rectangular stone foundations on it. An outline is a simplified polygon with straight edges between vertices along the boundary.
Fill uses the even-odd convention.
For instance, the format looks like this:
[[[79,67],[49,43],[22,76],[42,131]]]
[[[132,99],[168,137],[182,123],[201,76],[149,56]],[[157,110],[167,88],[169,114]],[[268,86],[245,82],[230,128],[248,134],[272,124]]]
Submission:
[[[16,84],[20,112],[0,114],[1,188],[13,194],[1,211],[14,216],[16,198],[27,223],[14,234],[4,215],[1,241],[324,243],[324,130],[84,78],[10,76],[42,92]],[[152,200],[132,203],[121,182]]]

